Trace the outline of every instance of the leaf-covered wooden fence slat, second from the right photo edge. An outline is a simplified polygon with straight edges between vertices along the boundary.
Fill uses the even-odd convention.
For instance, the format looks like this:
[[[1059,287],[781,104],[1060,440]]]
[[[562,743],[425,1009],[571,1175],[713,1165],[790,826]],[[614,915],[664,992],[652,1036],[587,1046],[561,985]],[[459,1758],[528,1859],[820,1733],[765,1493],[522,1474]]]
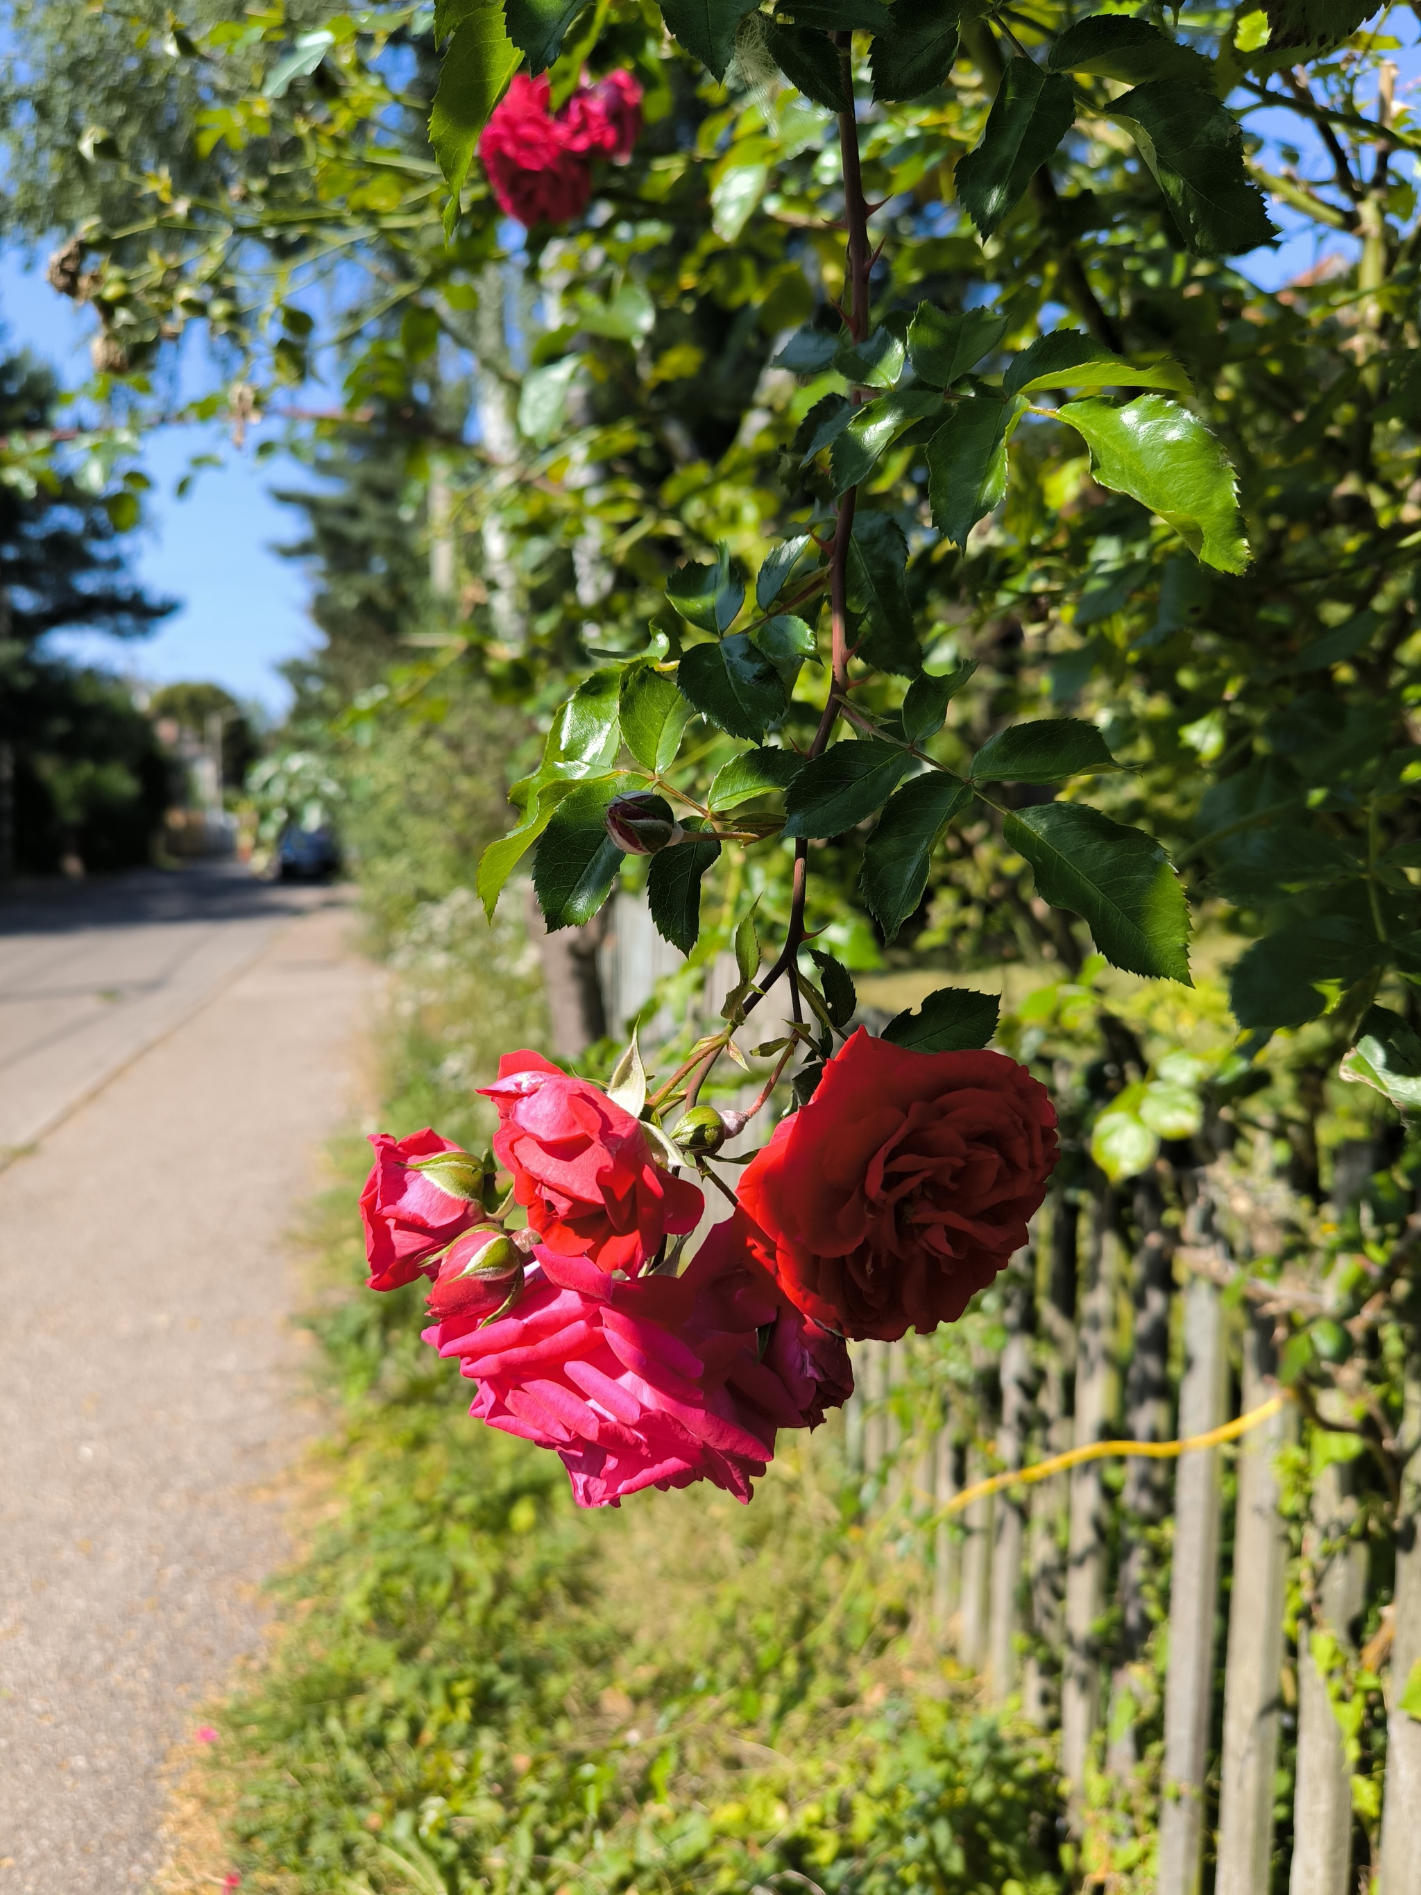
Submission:
[[[1319,1400],[1328,1417],[1340,1408],[1330,1391]],[[1338,1417],[1341,1417],[1338,1414]],[[1366,1548],[1345,1541],[1357,1501],[1349,1467],[1322,1469],[1313,1482],[1311,1520],[1304,1558],[1322,1563],[1317,1630],[1351,1649],[1351,1626],[1366,1590]],[[1332,1543],[1340,1543],[1328,1546]],[[1332,1713],[1326,1679],[1309,1649],[1309,1620],[1298,1626],[1298,1781],[1292,1806],[1292,1872],[1288,1895],[1351,1895],[1353,1798],[1341,1728]]]

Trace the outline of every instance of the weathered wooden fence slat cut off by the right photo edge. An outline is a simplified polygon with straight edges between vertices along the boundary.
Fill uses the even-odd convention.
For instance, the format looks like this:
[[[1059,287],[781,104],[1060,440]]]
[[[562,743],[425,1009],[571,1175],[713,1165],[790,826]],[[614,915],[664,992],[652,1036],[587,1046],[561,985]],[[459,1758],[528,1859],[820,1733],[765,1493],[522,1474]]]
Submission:
[[[1421,1895],[1421,1721],[1398,1704],[1421,1666],[1421,1355],[1412,1357],[1406,1372],[1402,1438],[1412,1453],[1396,1516],[1381,1895]]]

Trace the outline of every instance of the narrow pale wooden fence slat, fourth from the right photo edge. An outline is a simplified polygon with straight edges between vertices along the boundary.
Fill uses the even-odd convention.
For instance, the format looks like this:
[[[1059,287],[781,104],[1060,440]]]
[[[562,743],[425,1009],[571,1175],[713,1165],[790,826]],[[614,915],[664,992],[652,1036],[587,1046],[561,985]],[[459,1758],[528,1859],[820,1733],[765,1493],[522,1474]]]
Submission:
[[[1224,1419],[1226,1370],[1218,1290],[1207,1277],[1196,1277],[1184,1296],[1180,1435],[1205,1435]],[[1180,1459],[1175,1476],[1160,1895],[1194,1895],[1203,1861],[1203,1781],[1218,1603],[1218,1478],[1216,1448]]]

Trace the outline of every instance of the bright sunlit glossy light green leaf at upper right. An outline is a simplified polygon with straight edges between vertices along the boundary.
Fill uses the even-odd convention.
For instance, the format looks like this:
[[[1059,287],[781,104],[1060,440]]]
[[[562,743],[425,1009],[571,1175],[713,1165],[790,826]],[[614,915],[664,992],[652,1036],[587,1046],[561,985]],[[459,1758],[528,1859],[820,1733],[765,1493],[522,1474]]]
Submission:
[[[1067,402],[1057,415],[1084,436],[1101,487],[1148,506],[1207,567],[1243,572],[1249,542],[1233,468],[1196,415],[1160,394],[1139,394],[1124,407],[1093,396]]]

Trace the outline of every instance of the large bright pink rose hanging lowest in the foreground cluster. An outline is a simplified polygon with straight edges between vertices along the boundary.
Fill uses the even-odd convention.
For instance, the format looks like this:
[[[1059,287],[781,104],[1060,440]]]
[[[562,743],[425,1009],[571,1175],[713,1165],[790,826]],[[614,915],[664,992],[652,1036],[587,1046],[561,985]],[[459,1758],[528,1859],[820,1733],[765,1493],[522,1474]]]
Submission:
[[[642,1488],[710,1480],[741,1501],[798,1427],[790,1389],[760,1357],[777,1294],[739,1247],[705,1245],[684,1277],[614,1281],[585,1258],[538,1249],[527,1287],[485,1328],[428,1328],[479,1383],[472,1414],[553,1448],[580,1507]]]

